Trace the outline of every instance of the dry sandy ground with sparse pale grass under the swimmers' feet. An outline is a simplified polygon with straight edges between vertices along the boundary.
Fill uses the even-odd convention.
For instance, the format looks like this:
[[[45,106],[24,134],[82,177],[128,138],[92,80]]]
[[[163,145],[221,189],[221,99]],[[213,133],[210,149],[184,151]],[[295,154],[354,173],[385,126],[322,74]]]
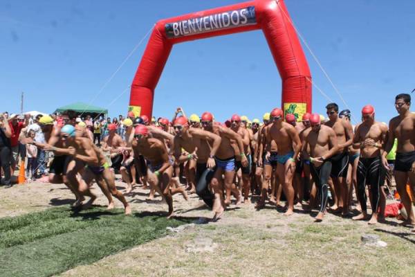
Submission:
[[[124,184],[117,182],[120,190]],[[95,204],[107,205],[99,188]],[[147,201],[148,190],[136,187],[127,195],[134,211],[167,213],[156,197]],[[71,204],[73,195],[63,184],[30,183],[0,188],[0,216],[41,211]],[[122,204],[115,199],[116,207]],[[212,217],[196,195],[185,201],[174,195],[177,216]],[[315,215],[315,213],[313,213]],[[365,247],[360,235],[375,233],[387,247]],[[331,265],[340,262],[340,266]],[[276,271],[277,270],[277,271]],[[196,224],[179,233],[142,244],[104,258],[92,265],[75,267],[63,276],[415,276],[415,233],[387,224],[369,226],[327,214],[315,223],[297,208],[286,217],[275,206],[257,211],[253,204],[228,208],[219,222]],[[385,275],[386,274],[386,275]]]

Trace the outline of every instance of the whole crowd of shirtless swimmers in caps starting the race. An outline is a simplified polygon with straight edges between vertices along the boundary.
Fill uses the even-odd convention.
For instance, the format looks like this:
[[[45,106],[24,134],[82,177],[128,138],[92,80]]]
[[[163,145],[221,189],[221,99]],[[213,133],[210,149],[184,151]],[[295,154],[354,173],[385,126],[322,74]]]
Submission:
[[[47,143],[30,143],[55,154],[49,181],[66,184],[75,195],[74,206],[93,204],[95,181],[109,208],[116,197],[125,214],[131,214],[115,185],[114,171],[119,171],[127,184],[125,193],[142,183],[150,189],[150,198],[157,192],[165,199],[168,217],[174,215],[172,195],[181,193],[187,200],[188,193],[196,193],[212,209],[212,221],[222,217],[233,197],[236,205],[250,205],[251,199],[258,199],[257,209],[277,205],[284,215],[293,215],[295,206],[317,209],[315,221],[320,222],[331,195],[333,213],[376,224],[385,211],[387,154],[397,139],[396,188],[407,211],[405,224],[415,224],[406,189],[408,182],[415,186],[415,114],[409,111],[410,103],[409,94],[396,96],[398,116],[390,120],[389,127],[375,120],[371,105],[362,108],[362,122],[354,128],[350,111],[339,112],[335,103],[326,105],[325,122],[319,114],[296,118],[279,108],[264,114],[263,123],[238,114],[219,123],[208,111],[187,118],[181,108],[171,121],[159,118],[154,123],[145,115],[129,112],[123,122],[125,139],[109,125],[100,148],[75,118],[63,114],[62,125],[54,126],[53,119],[44,116],[39,123]],[[183,180],[187,188],[181,185]],[[353,187],[360,211],[354,217],[350,211]],[[282,193],[284,207],[280,206]]]

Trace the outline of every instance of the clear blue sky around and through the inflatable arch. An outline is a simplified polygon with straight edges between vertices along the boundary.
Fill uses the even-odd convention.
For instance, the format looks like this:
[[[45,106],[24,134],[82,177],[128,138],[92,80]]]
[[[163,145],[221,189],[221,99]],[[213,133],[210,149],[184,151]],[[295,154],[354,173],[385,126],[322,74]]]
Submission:
[[[83,101],[126,114],[147,39],[95,96],[147,31],[167,17],[242,1],[0,1],[0,110],[52,112]],[[415,89],[415,1],[286,0],[298,30],[356,118],[371,103],[380,121],[394,96]],[[315,84],[344,104],[304,48]],[[127,89],[127,91],[126,91]],[[121,94],[124,91],[124,94]],[[174,46],[156,87],[154,115],[209,110],[261,118],[281,105],[281,80],[261,31]],[[412,93],[415,97],[415,93]],[[118,100],[115,100],[118,98]],[[313,111],[328,100],[313,88]],[[412,108],[412,110],[414,110]]]

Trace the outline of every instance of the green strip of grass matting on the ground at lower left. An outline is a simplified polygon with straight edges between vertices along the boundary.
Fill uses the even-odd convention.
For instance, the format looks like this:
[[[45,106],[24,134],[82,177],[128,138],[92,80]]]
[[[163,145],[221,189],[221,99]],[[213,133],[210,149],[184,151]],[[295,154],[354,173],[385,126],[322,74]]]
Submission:
[[[50,208],[39,213],[0,219],[0,276],[50,276],[77,265],[166,235],[166,227],[191,218],[107,211],[94,207],[74,213]]]

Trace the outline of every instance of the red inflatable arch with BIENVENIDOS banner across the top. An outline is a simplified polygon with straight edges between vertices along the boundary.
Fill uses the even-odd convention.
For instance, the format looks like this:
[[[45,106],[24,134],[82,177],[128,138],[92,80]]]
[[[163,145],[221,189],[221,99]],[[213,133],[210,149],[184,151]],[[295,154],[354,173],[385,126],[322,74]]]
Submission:
[[[282,78],[282,109],[311,112],[311,74],[282,0],[255,0],[157,22],[131,85],[129,110],[151,116],[154,89],[174,44],[261,29]]]

